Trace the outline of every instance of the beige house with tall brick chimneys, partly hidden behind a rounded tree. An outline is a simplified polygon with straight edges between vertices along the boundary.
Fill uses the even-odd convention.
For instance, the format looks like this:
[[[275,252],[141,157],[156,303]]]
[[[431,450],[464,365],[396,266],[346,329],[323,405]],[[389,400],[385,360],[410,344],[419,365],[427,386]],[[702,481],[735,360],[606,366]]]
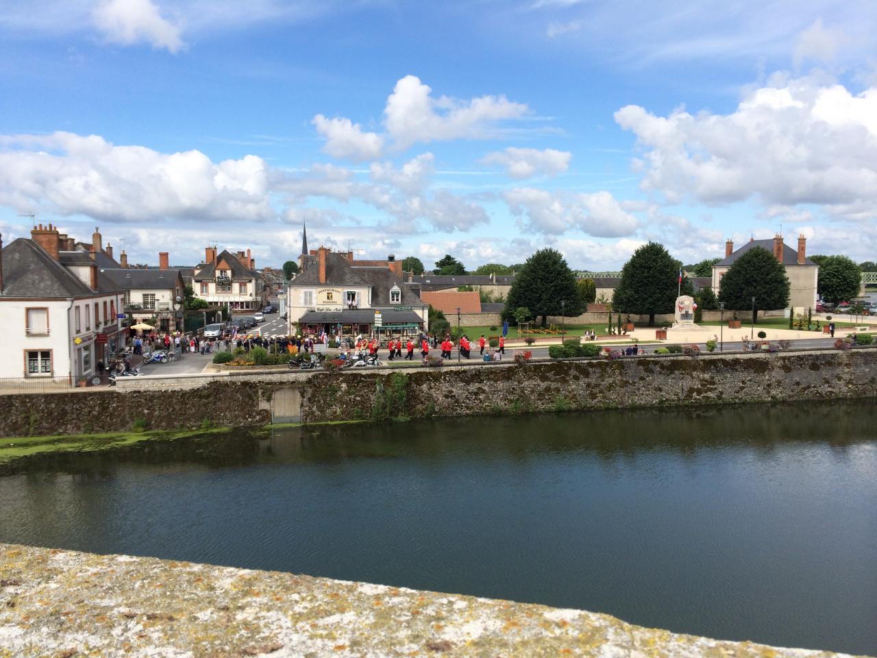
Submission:
[[[753,247],[762,247],[771,252],[774,254],[774,258],[780,261],[786,269],[788,282],[791,284],[788,297],[789,308],[796,313],[816,308],[816,283],[819,278],[819,266],[807,257],[807,238],[803,235],[798,236],[797,251],[785,244],[781,235],[775,235],[773,240],[750,239],[736,251],[731,240],[725,242],[724,259],[713,265],[712,289],[717,296],[725,272],[741,255]]]

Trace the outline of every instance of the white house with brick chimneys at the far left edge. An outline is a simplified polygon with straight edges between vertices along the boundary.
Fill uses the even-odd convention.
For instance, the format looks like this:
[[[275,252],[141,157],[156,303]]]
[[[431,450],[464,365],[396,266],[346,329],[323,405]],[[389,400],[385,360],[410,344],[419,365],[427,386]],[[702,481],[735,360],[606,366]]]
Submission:
[[[123,291],[98,254],[97,230],[86,252],[51,224],[0,248],[0,378],[86,383],[125,348]]]

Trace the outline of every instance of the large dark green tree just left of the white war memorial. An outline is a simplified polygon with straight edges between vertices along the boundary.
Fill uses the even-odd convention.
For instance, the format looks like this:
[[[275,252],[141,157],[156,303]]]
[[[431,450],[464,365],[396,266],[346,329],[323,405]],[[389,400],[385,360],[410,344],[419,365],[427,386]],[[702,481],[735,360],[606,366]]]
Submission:
[[[680,262],[663,245],[649,242],[639,247],[621,269],[612,305],[623,313],[648,315],[649,326],[654,326],[656,313],[673,312],[679,268]]]

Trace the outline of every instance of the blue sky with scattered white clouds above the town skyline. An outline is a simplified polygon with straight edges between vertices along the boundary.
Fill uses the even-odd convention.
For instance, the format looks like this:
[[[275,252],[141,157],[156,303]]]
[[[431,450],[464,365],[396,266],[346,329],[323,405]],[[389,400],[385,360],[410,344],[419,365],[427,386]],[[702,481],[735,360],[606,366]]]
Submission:
[[[877,260],[877,4],[0,0],[0,232],[616,270]],[[32,219],[29,215],[34,215]]]

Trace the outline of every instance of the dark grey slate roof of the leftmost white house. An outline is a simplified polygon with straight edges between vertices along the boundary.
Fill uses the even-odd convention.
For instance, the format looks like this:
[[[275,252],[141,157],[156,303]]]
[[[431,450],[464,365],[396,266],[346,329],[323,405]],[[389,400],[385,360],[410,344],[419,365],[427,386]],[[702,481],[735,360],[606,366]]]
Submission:
[[[89,259],[89,263],[91,260]],[[0,297],[86,297],[94,291],[27,238],[3,248],[4,289]]]

